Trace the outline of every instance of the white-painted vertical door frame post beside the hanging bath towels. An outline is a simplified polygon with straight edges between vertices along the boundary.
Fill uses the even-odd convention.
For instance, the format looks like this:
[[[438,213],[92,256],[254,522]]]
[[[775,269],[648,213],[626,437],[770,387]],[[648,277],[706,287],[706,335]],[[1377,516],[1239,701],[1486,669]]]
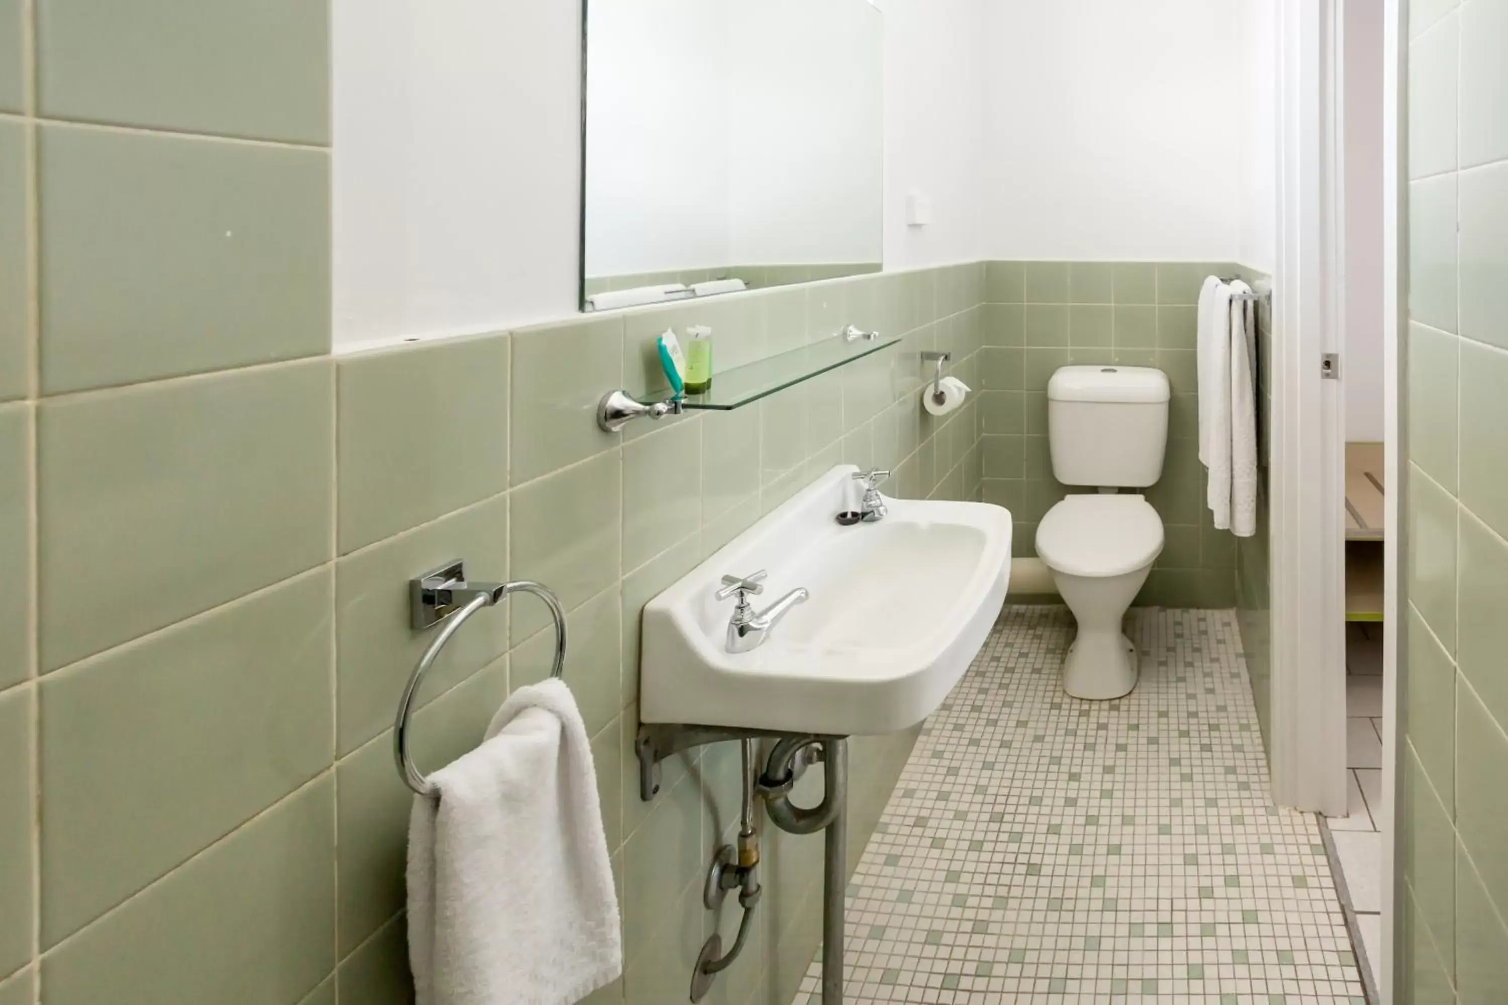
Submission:
[[[1344,0],[1279,0],[1270,759],[1280,806],[1344,815]],[[1344,378],[1344,360],[1342,360]]]

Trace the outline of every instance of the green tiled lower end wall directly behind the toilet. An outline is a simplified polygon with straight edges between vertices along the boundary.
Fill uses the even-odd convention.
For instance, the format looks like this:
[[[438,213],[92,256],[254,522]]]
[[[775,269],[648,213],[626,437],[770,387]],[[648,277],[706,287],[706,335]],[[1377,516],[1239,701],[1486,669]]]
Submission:
[[[1036,524],[1069,491],[1053,478],[1047,383],[1060,366],[1155,366],[1172,383],[1167,460],[1146,490],[1166,544],[1137,604],[1234,607],[1237,545],[1205,508],[1194,368],[1205,276],[1229,262],[989,262],[980,354],[985,500],[1016,517],[1016,554],[1036,554]]]

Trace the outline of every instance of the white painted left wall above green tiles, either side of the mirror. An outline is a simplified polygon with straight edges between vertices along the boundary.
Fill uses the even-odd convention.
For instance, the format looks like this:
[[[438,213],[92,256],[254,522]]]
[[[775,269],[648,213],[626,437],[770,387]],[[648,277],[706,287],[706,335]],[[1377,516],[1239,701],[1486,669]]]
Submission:
[[[979,258],[983,9],[884,3],[890,270]],[[333,30],[338,350],[576,313],[581,5],[333,0]]]

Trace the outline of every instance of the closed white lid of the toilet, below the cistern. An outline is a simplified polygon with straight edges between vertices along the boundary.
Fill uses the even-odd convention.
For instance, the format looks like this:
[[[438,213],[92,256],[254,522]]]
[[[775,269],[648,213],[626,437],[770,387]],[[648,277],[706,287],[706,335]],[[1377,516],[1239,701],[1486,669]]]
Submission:
[[[1163,553],[1163,518],[1142,496],[1068,496],[1038,526],[1038,557],[1069,576],[1123,576]]]

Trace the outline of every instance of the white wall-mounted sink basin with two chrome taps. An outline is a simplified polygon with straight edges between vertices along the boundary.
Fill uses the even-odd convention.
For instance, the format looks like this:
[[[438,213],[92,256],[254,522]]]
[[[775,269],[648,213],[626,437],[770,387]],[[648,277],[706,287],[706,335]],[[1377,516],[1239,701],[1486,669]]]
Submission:
[[[876,523],[840,526],[854,466],[834,467],[644,607],[639,719],[820,735],[926,719],[985,645],[1010,577],[1010,514],[885,499]],[[724,576],[768,570],[763,610],[804,586],[751,652],[727,651]]]

